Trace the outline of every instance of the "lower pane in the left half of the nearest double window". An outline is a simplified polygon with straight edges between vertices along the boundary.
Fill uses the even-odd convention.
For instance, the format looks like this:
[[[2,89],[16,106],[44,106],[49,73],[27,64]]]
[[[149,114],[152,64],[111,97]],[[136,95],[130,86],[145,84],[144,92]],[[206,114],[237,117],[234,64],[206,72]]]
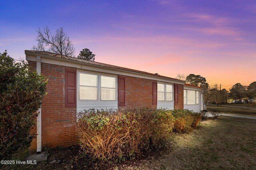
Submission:
[[[97,87],[80,86],[80,100],[97,100]]]

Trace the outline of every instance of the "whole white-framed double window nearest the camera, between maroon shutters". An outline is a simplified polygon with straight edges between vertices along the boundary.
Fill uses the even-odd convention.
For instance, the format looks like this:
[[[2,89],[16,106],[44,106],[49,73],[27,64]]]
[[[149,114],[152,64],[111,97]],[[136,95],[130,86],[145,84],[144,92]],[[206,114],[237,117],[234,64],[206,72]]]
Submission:
[[[79,100],[116,101],[116,77],[79,72]]]

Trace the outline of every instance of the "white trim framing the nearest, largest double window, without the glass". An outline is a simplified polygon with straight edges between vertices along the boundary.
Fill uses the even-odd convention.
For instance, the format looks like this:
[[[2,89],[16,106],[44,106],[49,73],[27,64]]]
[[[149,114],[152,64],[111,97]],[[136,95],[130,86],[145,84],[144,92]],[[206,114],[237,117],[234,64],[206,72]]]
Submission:
[[[86,99],[80,99],[80,73],[84,74],[93,74],[97,75],[97,100],[86,100]],[[116,93],[116,100],[101,100],[101,84],[100,84],[100,76],[109,76],[109,77],[114,77],[116,81],[116,88],[115,88],[115,93]],[[92,72],[84,72],[84,71],[78,71],[78,101],[88,101],[88,102],[117,102],[117,76],[110,76],[107,74],[100,74],[100,73],[92,73]],[[87,86],[88,87],[88,86]]]

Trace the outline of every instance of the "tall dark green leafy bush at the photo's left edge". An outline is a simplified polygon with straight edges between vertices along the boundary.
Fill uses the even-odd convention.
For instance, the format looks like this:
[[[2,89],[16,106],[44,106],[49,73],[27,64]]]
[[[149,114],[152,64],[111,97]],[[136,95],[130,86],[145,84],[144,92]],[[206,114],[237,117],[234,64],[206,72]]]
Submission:
[[[46,95],[44,79],[24,61],[15,63],[6,51],[0,53],[0,160],[30,146],[30,130]]]

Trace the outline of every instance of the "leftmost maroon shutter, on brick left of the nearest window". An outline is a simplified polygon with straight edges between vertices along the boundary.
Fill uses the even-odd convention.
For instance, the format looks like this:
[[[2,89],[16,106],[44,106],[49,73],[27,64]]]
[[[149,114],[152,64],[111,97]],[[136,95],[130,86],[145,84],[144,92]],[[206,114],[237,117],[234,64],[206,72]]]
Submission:
[[[65,104],[76,107],[76,70],[65,70]]]

